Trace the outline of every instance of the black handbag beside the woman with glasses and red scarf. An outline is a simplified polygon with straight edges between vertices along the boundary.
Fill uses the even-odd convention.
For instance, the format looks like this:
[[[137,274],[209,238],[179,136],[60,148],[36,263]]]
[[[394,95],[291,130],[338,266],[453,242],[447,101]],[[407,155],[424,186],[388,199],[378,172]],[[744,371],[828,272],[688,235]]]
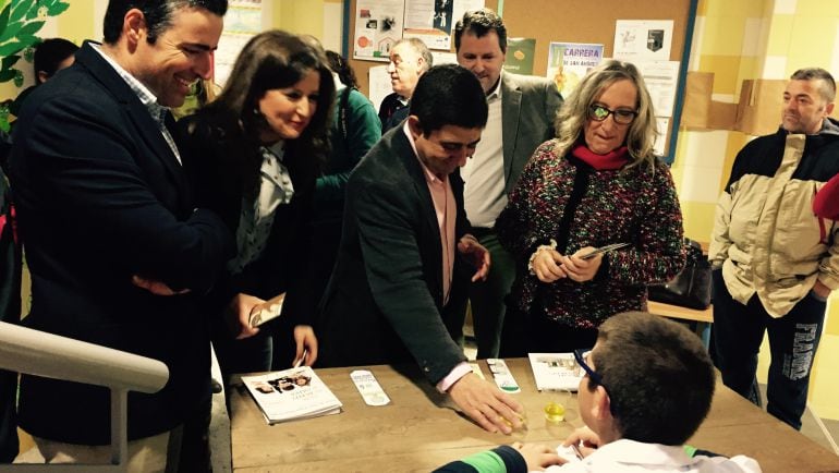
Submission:
[[[710,306],[710,263],[698,242],[684,239],[684,269],[665,284],[647,287],[650,301],[704,311]]]

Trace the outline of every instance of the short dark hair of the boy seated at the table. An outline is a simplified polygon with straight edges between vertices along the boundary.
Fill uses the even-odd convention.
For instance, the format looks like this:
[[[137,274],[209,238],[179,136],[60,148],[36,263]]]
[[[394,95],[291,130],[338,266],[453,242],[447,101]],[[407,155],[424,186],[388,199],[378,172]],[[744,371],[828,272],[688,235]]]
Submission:
[[[599,328],[592,352],[622,438],[682,445],[710,409],[716,376],[700,338],[645,312],[624,312]],[[588,379],[588,389],[596,383]]]

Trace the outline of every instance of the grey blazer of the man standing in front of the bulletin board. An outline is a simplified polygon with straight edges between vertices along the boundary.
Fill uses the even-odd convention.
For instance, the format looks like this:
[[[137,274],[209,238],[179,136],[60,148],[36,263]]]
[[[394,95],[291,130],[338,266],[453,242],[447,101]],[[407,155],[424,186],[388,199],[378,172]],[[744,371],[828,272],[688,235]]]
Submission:
[[[554,137],[554,122],[561,106],[562,96],[552,81],[509,72],[501,74],[501,138],[507,194],[519,182],[533,151]]]

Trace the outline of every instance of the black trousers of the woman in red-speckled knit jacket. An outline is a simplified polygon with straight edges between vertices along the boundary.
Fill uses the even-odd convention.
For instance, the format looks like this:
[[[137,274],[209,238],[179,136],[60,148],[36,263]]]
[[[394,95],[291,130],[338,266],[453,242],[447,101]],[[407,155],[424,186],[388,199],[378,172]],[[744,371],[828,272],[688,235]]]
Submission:
[[[527,353],[569,353],[589,349],[596,341],[596,328],[570,327],[544,315],[531,316],[508,307],[499,355],[523,357]]]

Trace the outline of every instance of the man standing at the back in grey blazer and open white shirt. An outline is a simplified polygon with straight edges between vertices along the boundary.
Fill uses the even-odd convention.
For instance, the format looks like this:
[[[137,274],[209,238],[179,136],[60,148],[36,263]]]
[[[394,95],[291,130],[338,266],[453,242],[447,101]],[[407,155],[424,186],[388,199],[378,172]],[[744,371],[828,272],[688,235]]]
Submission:
[[[454,26],[458,63],[484,87],[489,118],[481,146],[461,170],[466,217],[493,256],[486,281],[470,287],[477,357],[498,356],[504,296],[515,279],[515,262],[495,232],[495,221],[533,151],[554,137],[562,97],[552,81],[503,72],[507,28],[489,9],[466,12]]]

